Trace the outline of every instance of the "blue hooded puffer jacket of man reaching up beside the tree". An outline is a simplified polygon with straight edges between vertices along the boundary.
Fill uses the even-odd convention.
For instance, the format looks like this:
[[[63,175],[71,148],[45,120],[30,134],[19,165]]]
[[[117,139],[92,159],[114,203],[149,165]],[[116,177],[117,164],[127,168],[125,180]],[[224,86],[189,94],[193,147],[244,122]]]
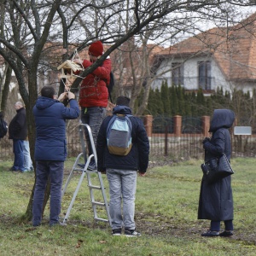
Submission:
[[[71,100],[70,108],[66,108],[57,100],[38,98],[33,107],[37,131],[35,160],[66,160],[66,119],[77,119],[79,113],[75,100]]]

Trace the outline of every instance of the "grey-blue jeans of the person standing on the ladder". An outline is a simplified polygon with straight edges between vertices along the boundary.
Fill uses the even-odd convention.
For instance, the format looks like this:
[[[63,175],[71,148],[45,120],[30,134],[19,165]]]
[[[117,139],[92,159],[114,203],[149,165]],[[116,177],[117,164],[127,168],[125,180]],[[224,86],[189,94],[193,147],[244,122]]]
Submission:
[[[91,107],[91,108],[81,108],[81,121],[83,124],[87,124],[90,126],[90,130],[92,133],[93,141],[96,147],[97,136],[102,125],[103,119],[107,115],[107,109],[102,107]],[[92,150],[90,147],[90,139],[87,134],[87,130],[85,130],[85,137],[88,144],[88,154],[92,154]]]

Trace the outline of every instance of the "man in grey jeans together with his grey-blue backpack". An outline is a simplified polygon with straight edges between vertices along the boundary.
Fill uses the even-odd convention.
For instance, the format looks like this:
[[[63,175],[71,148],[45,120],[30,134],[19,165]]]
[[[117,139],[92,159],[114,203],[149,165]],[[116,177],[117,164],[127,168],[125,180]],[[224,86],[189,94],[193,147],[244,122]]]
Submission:
[[[107,173],[113,236],[141,236],[134,220],[137,172],[145,176],[149,142],[143,121],[131,115],[130,99],[119,96],[113,116],[103,120],[96,143],[97,170]],[[123,201],[123,214],[122,214]]]

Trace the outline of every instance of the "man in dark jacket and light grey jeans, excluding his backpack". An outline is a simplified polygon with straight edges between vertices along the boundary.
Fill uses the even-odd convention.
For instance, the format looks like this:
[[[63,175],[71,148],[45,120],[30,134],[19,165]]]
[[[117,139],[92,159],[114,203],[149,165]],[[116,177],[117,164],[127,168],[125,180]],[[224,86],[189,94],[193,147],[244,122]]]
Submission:
[[[134,221],[137,172],[144,176],[148,168],[149,143],[141,119],[130,116],[130,99],[119,96],[113,114],[129,115],[131,119],[131,151],[127,155],[110,154],[107,145],[107,128],[112,116],[102,122],[96,142],[97,170],[107,172],[109,183],[109,213],[113,236],[120,236],[125,227],[125,236],[141,236]],[[123,217],[121,203],[123,201]]]

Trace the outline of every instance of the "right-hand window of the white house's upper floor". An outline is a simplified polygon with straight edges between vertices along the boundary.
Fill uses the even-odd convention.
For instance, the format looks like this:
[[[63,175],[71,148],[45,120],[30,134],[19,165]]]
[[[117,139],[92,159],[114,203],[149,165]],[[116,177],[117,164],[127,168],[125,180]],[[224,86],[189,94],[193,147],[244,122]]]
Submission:
[[[202,90],[211,90],[211,62],[198,62],[198,87]]]

